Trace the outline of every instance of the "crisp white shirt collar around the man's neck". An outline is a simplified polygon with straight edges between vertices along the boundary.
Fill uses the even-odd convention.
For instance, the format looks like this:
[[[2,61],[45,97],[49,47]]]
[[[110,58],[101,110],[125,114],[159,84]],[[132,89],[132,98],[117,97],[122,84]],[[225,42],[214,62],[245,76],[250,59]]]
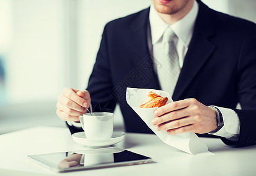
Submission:
[[[194,1],[191,11],[189,11],[182,19],[170,25],[173,32],[185,47],[188,47],[192,38],[193,26],[195,24],[196,16],[198,15],[198,2]],[[150,5],[149,22],[151,30],[152,44],[160,42],[165,29],[168,28],[168,23],[165,23],[159,15],[157,15],[154,5]]]

